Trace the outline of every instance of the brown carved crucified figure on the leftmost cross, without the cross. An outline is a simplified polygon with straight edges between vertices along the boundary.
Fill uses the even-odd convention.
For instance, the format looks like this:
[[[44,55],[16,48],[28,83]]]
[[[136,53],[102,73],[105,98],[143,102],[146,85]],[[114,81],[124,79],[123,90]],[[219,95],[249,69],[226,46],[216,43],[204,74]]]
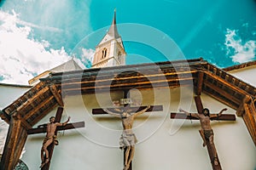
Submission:
[[[49,162],[49,151],[47,150],[47,147],[49,146],[49,144],[52,144],[52,143],[54,143],[55,145],[59,144],[57,140],[57,136],[55,135],[56,128],[60,126],[66,126],[69,120],[70,120],[70,116],[68,116],[66,122],[62,122],[62,123],[55,122],[55,116],[51,116],[49,117],[49,123],[38,126],[38,127],[46,127],[46,136],[44,138],[43,146],[41,149],[42,163],[40,167],[44,167],[44,165]]]

